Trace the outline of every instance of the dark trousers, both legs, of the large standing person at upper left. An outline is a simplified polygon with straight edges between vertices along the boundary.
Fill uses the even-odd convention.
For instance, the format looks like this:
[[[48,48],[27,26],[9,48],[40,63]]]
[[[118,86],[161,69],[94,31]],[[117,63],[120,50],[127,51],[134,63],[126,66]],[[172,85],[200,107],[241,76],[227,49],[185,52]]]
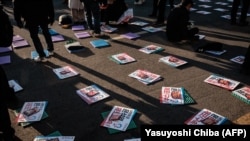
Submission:
[[[29,32],[30,32],[30,37],[33,41],[33,44],[36,48],[37,53],[39,54],[40,57],[45,57],[43,45],[38,37],[38,32],[39,32],[39,26],[42,30],[43,36],[45,38],[45,41],[47,43],[47,50],[48,51],[53,51],[54,46],[51,38],[51,34],[49,33],[49,28],[47,23],[27,23]]]

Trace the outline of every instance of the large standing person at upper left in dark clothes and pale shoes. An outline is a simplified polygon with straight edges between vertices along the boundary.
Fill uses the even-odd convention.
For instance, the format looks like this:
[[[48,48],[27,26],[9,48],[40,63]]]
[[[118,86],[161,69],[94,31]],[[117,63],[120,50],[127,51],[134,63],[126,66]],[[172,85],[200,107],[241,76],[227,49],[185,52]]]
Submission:
[[[52,0],[14,0],[14,18],[19,28],[23,28],[23,21],[29,30],[38,56],[34,61],[40,62],[45,57],[43,45],[38,37],[39,28],[41,28],[47,44],[49,56],[54,54],[54,45],[52,42],[49,27],[54,23],[54,5]]]

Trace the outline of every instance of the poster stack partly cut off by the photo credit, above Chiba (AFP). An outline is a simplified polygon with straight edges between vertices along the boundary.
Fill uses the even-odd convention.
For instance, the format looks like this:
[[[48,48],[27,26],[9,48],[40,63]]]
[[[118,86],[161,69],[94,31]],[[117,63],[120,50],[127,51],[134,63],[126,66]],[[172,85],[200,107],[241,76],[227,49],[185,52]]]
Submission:
[[[184,123],[187,125],[222,125],[228,119],[208,109],[202,109]]]

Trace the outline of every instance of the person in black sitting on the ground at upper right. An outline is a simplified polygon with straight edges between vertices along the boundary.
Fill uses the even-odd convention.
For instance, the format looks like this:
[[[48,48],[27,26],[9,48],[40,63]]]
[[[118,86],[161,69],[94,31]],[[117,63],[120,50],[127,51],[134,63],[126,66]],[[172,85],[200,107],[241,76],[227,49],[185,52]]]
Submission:
[[[189,12],[192,6],[192,0],[184,0],[179,7],[175,7],[169,13],[166,26],[166,35],[169,41],[179,42],[196,39],[195,34],[199,32],[199,29],[189,27]]]

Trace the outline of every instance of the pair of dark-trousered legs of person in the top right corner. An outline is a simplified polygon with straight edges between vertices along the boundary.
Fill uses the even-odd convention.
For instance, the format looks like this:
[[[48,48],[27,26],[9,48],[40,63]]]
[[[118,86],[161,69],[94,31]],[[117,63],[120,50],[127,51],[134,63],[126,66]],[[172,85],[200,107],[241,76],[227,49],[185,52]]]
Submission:
[[[247,26],[248,21],[246,19],[247,19],[247,12],[248,12],[249,5],[250,5],[250,0],[234,0],[233,1],[233,5],[231,9],[231,24],[232,25],[237,24],[236,17],[237,17],[238,8],[241,2],[242,2],[242,8],[240,12],[239,25]]]

